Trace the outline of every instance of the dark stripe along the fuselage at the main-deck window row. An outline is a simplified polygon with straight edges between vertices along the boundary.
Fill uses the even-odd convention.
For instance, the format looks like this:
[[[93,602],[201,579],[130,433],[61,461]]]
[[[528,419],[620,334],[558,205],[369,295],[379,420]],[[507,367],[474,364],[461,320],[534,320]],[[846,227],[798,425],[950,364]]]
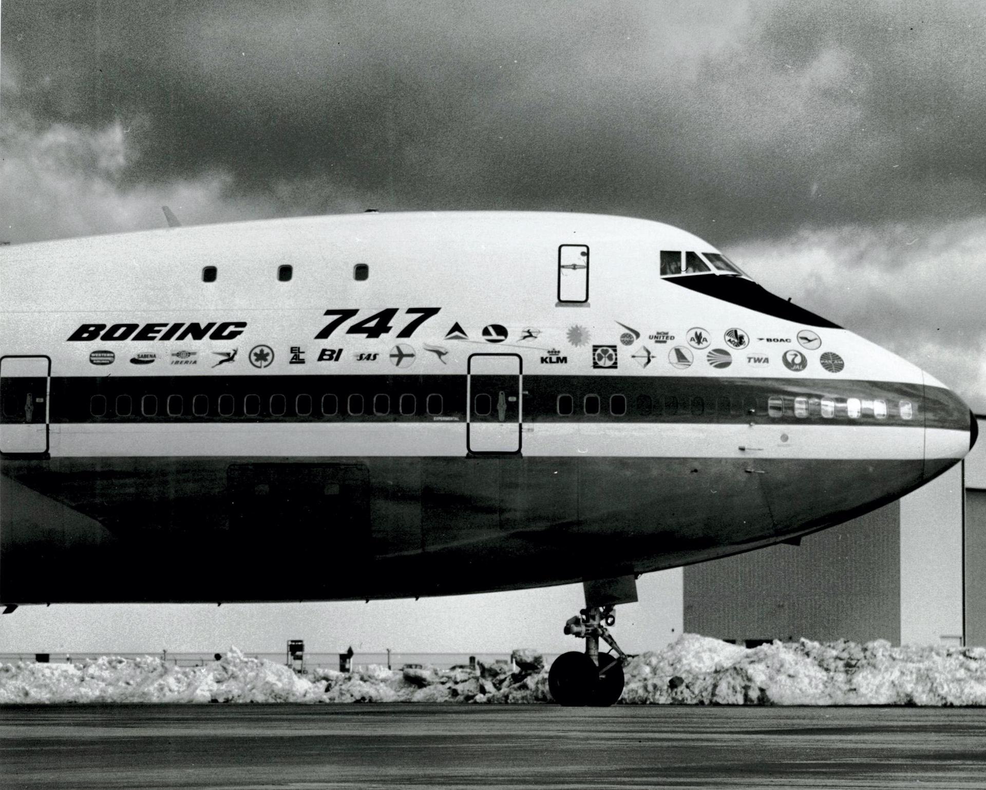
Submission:
[[[328,376],[86,376],[51,379],[50,419],[53,423],[86,422],[255,422],[263,421],[432,421],[436,414],[428,412],[428,396],[441,396],[441,415],[465,419],[465,376],[460,375],[347,375]],[[713,377],[646,377],[646,376],[537,376],[524,377],[524,421],[533,422],[639,422],[675,423],[707,422],[712,424],[756,422],[762,424],[824,425],[904,425],[922,424],[922,411],[928,427],[955,427],[957,398],[948,390],[927,388],[922,401],[922,386],[870,382],[863,380],[829,379],[727,379]],[[157,414],[141,414],[145,395],[157,398]],[[172,397],[176,395],[177,397]],[[206,399],[195,400],[196,395]],[[232,413],[220,413],[223,403],[232,403]],[[248,395],[255,397],[248,398]],[[274,397],[281,395],[283,397]],[[297,406],[307,408],[311,396],[312,413],[299,414]],[[335,395],[338,409],[335,415],[321,413],[322,395]],[[364,413],[346,413],[349,395],[363,395]],[[389,414],[374,414],[374,396],[389,395]],[[400,396],[413,395],[414,413],[399,412]],[[576,413],[558,414],[558,396],[571,395]],[[599,395],[600,413],[586,414],[586,395]],[[609,398],[624,395],[626,412],[609,413]],[[105,398],[105,402],[101,399]],[[93,398],[96,398],[94,401]],[[274,397],[272,402],[272,397]],[[809,416],[795,415],[795,398],[808,398]],[[882,399],[887,415],[878,419],[864,413],[850,418],[845,411],[848,397],[861,400]],[[121,398],[117,400],[117,398]],[[129,414],[126,410],[129,398]],[[170,400],[171,398],[171,400]],[[178,399],[180,398],[180,399]],[[771,398],[774,398],[771,401]],[[820,416],[821,398],[831,398],[837,410],[833,418]],[[331,399],[331,397],[329,397]],[[898,403],[909,400],[913,417],[901,418]],[[771,409],[771,402],[774,408]],[[169,415],[169,406],[175,412]],[[383,406],[381,402],[379,405]],[[410,402],[405,401],[405,406]],[[272,413],[272,406],[273,412]],[[614,403],[618,411],[619,403]],[[94,415],[93,410],[103,412]],[[283,414],[281,409],[283,408]],[[105,409],[105,411],[104,411]],[[226,408],[224,407],[224,412]],[[247,410],[249,413],[247,413]],[[252,413],[253,411],[256,413]],[[383,409],[381,409],[383,410]],[[436,409],[432,409],[435,411]],[[755,413],[750,413],[750,411]],[[771,412],[780,416],[771,416]],[[203,412],[203,413],[194,413]],[[495,419],[495,413],[489,419]],[[17,415],[2,416],[4,422],[22,422]]]

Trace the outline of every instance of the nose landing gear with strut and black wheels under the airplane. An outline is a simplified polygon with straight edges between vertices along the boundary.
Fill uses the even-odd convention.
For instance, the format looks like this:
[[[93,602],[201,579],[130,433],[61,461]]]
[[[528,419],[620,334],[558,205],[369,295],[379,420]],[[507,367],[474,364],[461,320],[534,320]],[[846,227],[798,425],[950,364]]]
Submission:
[[[632,576],[629,577],[629,588],[625,578],[612,581],[623,586],[622,594],[617,594],[615,603],[637,600]],[[586,652],[573,650],[563,653],[555,659],[548,672],[548,690],[560,705],[607,707],[623,693],[623,665],[630,660],[630,656],[620,649],[609,633],[608,626],[616,622],[614,603],[598,603],[598,584],[586,584],[586,608],[565,623],[565,633],[586,640]],[[601,598],[613,601],[612,584],[608,587],[608,593]],[[599,639],[609,645],[610,652],[599,654]]]

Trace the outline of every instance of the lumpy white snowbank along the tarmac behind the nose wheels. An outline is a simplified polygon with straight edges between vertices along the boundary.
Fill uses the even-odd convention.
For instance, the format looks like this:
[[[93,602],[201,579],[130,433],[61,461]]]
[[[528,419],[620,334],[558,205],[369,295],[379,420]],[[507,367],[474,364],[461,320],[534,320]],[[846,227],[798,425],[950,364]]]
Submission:
[[[233,649],[203,667],[150,656],[77,664],[0,665],[0,703],[25,702],[547,702],[540,655],[475,670],[287,667]],[[624,703],[986,705],[986,648],[819,644],[803,639],[747,650],[684,634],[626,667]]]

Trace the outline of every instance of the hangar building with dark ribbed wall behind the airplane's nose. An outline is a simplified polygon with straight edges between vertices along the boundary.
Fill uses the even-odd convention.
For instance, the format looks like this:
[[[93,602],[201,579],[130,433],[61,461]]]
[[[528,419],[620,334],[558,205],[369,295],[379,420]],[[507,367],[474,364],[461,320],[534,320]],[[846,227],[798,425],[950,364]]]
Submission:
[[[687,566],[682,588],[686,632],[747,646],[986,646],[986,441],[917,491],[800,545]]]

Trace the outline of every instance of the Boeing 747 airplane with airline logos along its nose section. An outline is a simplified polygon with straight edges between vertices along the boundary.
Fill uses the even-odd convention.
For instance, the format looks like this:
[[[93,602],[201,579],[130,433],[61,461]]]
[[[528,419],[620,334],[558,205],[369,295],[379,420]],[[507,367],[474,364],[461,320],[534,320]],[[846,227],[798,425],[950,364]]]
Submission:
[[[0,250],[8,610],[582,582],[586,652],[551,692],[610,704],[640,574],[877,508],[975,431],[932,376],[657,222],[368,213]]]

